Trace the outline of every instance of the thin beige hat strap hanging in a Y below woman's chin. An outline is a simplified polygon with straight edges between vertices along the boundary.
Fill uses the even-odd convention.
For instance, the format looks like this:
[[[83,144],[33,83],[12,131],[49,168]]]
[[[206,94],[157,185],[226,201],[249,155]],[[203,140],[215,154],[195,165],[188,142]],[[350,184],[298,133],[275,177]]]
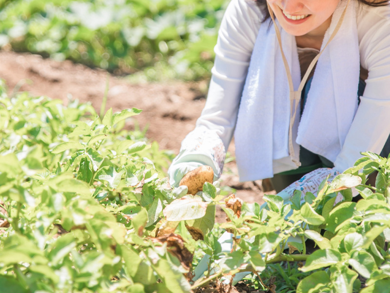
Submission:
[[[287,73],[287,79],[289,81],[289,88],[290,88],[289,152],[290,152],[290,157],[292,159],[292,162],[295,163],[295,165],[297,167],[301,166],[301,163],[295,158],[294,147],[293,147],[293,144],[292,144],[292,126],[293,126],[294,121],[295,121],[296,112],[297,112],[299,101],[300,101],[301,95],[302,95],[302,90],[303,90],[303,87],[306,84],[307,79],[309,78],[309,74],[312,71],[315,63],[318,61],[318,59],[320,58],[322,52],[324,52],[325,48],[328,46],[328,44],[331,42],[331,40],[334,38],[334,36],[338,32],[338,30],[340,29],[341,24],[342,24],[342,22],[344,20],[345,13],[347,12],[347,8],[348,8],[348,5],[349,5],[350,2],[351,2],[351,0],[348,0],[347,6],[345,7],[343,13],[341,14],[341,17],[340,17],[339,21],[337,22],[337,25],[334,28],[334,31],[332,32],[331,37],[329,38],[328,42],[325,44],[325,46],[321,50],[321,52],[319,52],[318,55],[315,56],[314,59],[312,60],[312,63],[310,63],[308,69],[306,70],[305,75],[302,78],[301,83],[299,84],[298,90],[296,90],[296,91],[294,91],[294,85],[292,83],[292,76],[291,76],[291,72],[290,72],[289,63],[287,62],[286,56],[285,56],[285,54],[283,52],[282,40],[281,40],[281,37],[280,37],[280,31],[279,31],[279,28],[276,25],[276,22],[275,22],[275,19],[274,19],[274,15],[273,15],[273,11],[272,11],[270,5],[267,2],[268,11],[270,12],[270,16],[271,16],[272,21],[273,21],[273,26],[275,27],[277,41],[279,43],[279,48],[280,48],[280,51],[282,53],[284,67],[285,67],[286,73]]]

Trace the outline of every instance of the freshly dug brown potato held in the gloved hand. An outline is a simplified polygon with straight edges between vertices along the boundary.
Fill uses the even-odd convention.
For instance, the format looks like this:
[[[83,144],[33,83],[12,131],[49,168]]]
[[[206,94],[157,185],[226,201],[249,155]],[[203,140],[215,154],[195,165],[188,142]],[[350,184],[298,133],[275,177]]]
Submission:
[[[205,182],[213,183],[214,171],[210,166],[197,167],[184,175],[180,180],[179,186],[186,185],[188,187],[188,194],[195,195],[196,192],[203,190]]]

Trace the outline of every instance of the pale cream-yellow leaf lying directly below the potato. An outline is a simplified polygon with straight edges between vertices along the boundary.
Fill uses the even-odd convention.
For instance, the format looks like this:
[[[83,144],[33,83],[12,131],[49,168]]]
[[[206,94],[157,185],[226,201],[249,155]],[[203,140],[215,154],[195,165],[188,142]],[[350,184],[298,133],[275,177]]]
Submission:
[[[194,220],[206,214],[208,204],[196,196],[183,196],[174,200],[163,210],[168,221]]]

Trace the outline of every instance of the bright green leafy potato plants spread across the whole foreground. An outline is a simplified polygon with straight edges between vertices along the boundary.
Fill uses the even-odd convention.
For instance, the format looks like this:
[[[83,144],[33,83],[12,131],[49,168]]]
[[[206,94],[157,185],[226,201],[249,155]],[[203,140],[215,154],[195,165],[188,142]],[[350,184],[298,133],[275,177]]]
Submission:
[[[192,195],[169,186],[168,153],[124,130],[137,108],[100,118],[77,101],[6,92],[1,84],[2,293],[186,293],[232,285],[241,272],[261,280],[281,261],[304,264],[298,293],[388,292],[389,159],[364,153],[316,197],[296,191],[286,203],[224,198],[209,182]],[[366,185],[373,171],[375,187]],[[228,250],[216,235],[217,205]],[[311,254],[306,239],[316,244]]]

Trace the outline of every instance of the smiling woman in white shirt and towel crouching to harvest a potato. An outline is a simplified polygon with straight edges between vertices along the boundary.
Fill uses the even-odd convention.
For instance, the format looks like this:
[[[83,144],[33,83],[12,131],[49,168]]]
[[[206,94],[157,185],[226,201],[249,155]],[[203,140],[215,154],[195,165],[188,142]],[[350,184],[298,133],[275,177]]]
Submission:
[[[273,177],[278,192],[308,172],[303,185],[314,191],[362,151],[387,156],[389,3],[232,0],[207,102],[169,169],[171,184],[200,165],[218,178],[233,133],[240,180]]]

